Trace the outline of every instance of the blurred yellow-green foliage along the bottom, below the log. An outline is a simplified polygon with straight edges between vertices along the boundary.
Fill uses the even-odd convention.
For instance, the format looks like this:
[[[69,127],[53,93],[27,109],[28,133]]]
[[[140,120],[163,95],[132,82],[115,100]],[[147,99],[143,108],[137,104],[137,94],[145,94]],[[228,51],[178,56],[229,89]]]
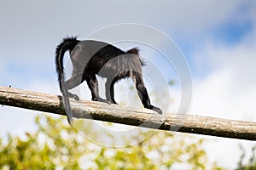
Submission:
[[[36,133],[0,140],[0,169],[221,169],[207,161],[203,140],[189,135],[156,131],[143,143],[114,148],[89,142],[61,116],[38,116],[36,124]]]

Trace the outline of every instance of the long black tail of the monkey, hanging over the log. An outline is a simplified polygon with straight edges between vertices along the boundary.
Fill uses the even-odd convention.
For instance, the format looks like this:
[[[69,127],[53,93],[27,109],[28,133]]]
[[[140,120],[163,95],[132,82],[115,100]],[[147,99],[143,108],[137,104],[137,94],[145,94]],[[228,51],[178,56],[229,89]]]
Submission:
[[[63,58],[64,54],[68,51],[72,51],[73,48],[79,43],[77,37],[66,37],[63,38],[62,42],[57,46],[55,51],[55,65],[56,71],[58,74],[58,82],[60,85],[61,93],[63,95],[63,104],[67,114],[67,121],[70,125],[73,125],[73,113],[69,104],[68,92],[64,83],[64,67],[63,67]]]

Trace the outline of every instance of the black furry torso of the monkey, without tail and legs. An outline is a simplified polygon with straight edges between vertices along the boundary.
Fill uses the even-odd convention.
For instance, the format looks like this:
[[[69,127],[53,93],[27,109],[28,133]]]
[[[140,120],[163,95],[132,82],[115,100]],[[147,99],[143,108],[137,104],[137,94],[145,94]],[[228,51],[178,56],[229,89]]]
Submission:
[[[84,67],[85,74],[121,79],[132,77],[134,71],[142,72],[142,60],[137,48],[125,52],[107,42],[84,40],[77,44],[71,55],[76,65]]]

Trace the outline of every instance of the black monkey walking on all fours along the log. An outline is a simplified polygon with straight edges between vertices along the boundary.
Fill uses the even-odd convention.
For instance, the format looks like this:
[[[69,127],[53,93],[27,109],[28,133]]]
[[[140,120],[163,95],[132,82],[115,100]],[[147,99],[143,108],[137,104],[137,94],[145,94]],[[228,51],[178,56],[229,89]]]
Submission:
[[[63,57],[67,50],[73,63],[73,73],[72,77],[64,82]],[[76,100],[79,100],[79,97],[76,94],[69,93],[67,90],[75,88],[84,80],[90,88],[92,100],[117,104],[113,99],[114,83],[122,78],[131,77],[136,83],[137,94],[142,100],[143,106],[162,114],[160,108],[150,104],[142,77],[143,61],[138,54],[137,48],[131,48],[124,52],[107,42],[79,41],[77,37],[66,37],[63,38],[55,50],[55,65],[61,93],[63,94],[67,121],[70,124],[73,123],[73,114],[68,97]],[[106,99],[99,97],[96,75],[107,78],[105,84]]]

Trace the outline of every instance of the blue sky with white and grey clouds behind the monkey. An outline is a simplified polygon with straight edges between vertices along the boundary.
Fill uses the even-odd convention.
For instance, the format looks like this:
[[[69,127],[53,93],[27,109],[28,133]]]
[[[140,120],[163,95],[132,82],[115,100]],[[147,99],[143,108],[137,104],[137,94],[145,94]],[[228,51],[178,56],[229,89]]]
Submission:
[[[106,26],[134,23],[164,32],[181,50],[193,81],[189,114],[256,121],[255,9],[255,1],[244,0],[3,0],[0,86],[60,94],[54,57],[55,47],[63,37],[83,38]],[[141,46],[148,59],[154,58],[154,54],[160,56],[150,55],[149,48]],[[173,79],[178,82],[178,77]],[[172,98],[179,101],[180,91],[172,92]],[[0,108],[0,112],[1,136],[32,130],[31,113],[38,114],[8,106]],[[237,144],[247,148],[254,144],[236,139],[206,139],[210,158],[230,168],[240,156]]]

